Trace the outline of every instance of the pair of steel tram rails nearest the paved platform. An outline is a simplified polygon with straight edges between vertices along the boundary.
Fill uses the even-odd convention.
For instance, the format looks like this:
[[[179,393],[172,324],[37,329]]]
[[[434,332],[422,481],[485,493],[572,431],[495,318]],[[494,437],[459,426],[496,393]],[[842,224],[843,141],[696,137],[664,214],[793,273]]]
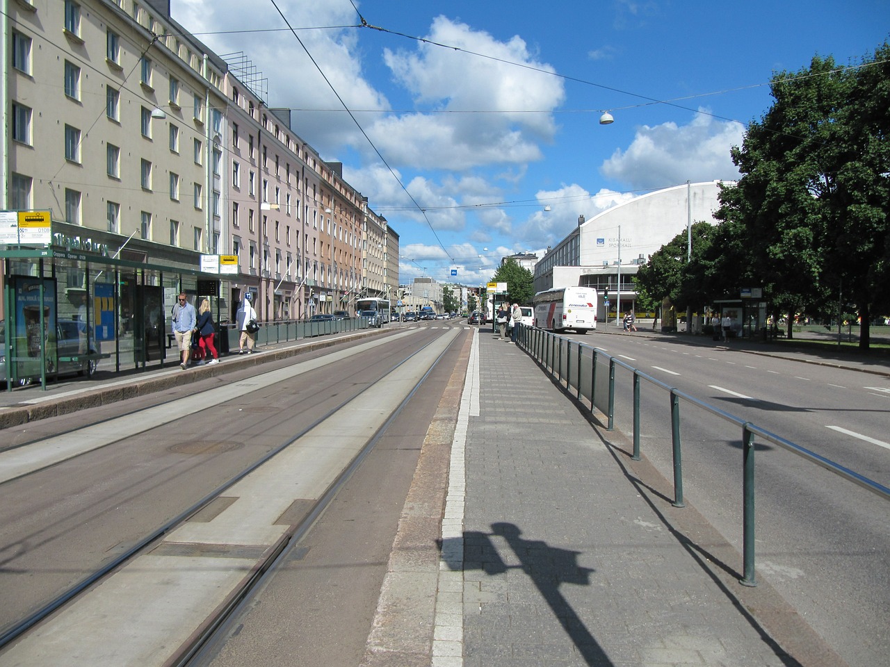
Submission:
[[[28,631],[35,628],[39,623],[41,623],[51,615],[59,613],[61,609],[77,600],[83,593],[85,593],[85,591],[93,589],[98,583],[101,583],[103,580],[107,579],[109,575],[120,572],[122,568],[126,567],[127,564],[132,563],[135,559],[139,558],[140,555],[150,553],[152,550],[156,549],[158,547],[158,544],[163,542],[166,536],[172,534],[177,528],[186,524],[190,518],[195,517],[198,512],[206,509],[215,500],[221,498],[223,494],[229,491],[233,486],[239,484],[241,480],[244,480],[245,478],[250,476],[251,473],[253,473],[255,470],[260,470],[263,465],[271,462],[276,456],[279,456],[279,454],[286,451],[288,447],[293,446],[301,438],[304,438],[307,434],[311,433],[312,430],[319,427],[322,423],[328,421],[332,416],[343,411],[357,398],[360,398],[362,395],[367,395],[368,393],[379,391],[378,385],[392,376],[392,374],[394,374],[395,371],[400,368],[400,366],[407,364],[412,359],[417,358],[419,355],[424,353],[425,350],[427,350],[435,342],[439,341],[440,338],[440,336],[436,336],[433,341],[425,342],[419,349],[410,351],[408,355],[405,355],[402,352],[401,359],[398,360],[396,363],[389,362],[389,366],[387,367],[385,372],[380,373],[375,382],[371,382],[365,386],[354,387],[353,390],[349,392],[348,396],[345,396],[335,405],[328,406],[322,414],[317,415],[315,419],[312,420],[312,422],[305,424],[303,429],[295,433],[293,437],[287,438],[285,441],[281,442],[279,446],[275,446],[274,448],[272,448],[260,459],[247,466],[243,470],[240,470],[238,474],[233,475],[226,482],[214,488],[210,493],[204,495],[201,499],[198,500],[198,502],[193,503],[190,507],[182,510],[174,518],[166,521],[166,523],[162,526],[158,526],[158,528],[152,531],[150,534],[145,534],[142,539],[136,541],[131,548],[126,549],[123,553],[109,560],[109,562],[104,564],[102,567],[97,568],[90,575],[87,575],[86,577],[79,580],[75,585],[70,586],[66,591],[61,592],[60,595],[56,596],[50,602],[37,609],[33,614],[28,615],[26,618],[23,618],[18,623],[14,623],[12,627],[8,628],[2,635],[0,635],[0,651],[4,651],[6,647],[12,646],[13,643],[25,637]],[[344,484],[345,480],[348,479],[350,475],[352,475],[352,471],[360,465],[360,462],[364,459],[368,452],[373,449],[376,440],[380,438],[382,433],[384,433],[389,423],[392,422],[394,416],[399,414],[401,409],[405,405],[407,405],[410,398],[423,384],[425,378],[431,372],[433,367],[438,364],[441,357],[448,350],[449,345],[456,339],[457,335],[453,336],[448,342],[448,345],[445,347],[445,349],[438,353],[437,357],[433,361],[433,364],[426,370],[425,374],[423,374],[423,376],[420,377],[419,380],[417,380],[414,387],[404,398],[402,398],[399,405],[392,410],[391,414],[389,414],[384,423],[375,431],[375,433],[370,438],[368,438],[364,446],[360,448],[359,453],[352,458],[352,461],[350,461],[344,468],[344,470],[342,470],[340,474],[329,484],[328,488],[325,490],[325,493],[322,494],[318,501],[315,502],[312,507],[306,512],[303,519],[300,520],[298,523],[289,526],[287,531],[285,531],[284,534],[280,536],[279,540],[275,544],[273,544],[270,549],[266,550],[263,553],[263,558],[257,562],[252,574],[244,579],[242,585],[239,587],[239,590],[232,591],[231,595],[228,596],[226,603],[222,607],[217,608],[214,619],[209,619],[206,623],[203,623],[201,628],[196,631],[196,633],[190,638],[190,641],[187,642],[187,645],[183,647],[182,651],[180,652],[181,655],[175,658],[175,662],[166,662],[167,664],[193,664],[193,660],[196,658],[196,656],[198,656],[199,653],[204,650],[203,647],[206,647],[208,645],[208,642],[212,642],[214,640],[214,637],[219,636],[220,631],[224,630],[226,619],[231,618],[232,614],[237,613],[239,606],[243,604],[243,601],[245,599],[248,598],[248,596],[251,594],[251,591],[255,591],[257,587],[262,586],[265,578],[274,570],[277,560],[286,556],[287,553],[295,547],[295,544],[299,542],[300,537],[306,530],[308,530],[310,526],[312,526],[312,522],[315,520],[315,518],[320,515],[320,513],[327,506],[328,502],[330,502],[330,500],[336,495],[337,489],[342,486],[342,484]],[[379,355],[375,358],[376,363],[384,363],[384,361],[385,360]],[[328,390],[332,388],[333,382]],[[322,393],[324,393],[324,391],[322,391]],[[314,392],[314,395],[317,396],[318,394],[319,392]],[[166,403],[167,402],[165,402],[164,405],[166,405]]]

